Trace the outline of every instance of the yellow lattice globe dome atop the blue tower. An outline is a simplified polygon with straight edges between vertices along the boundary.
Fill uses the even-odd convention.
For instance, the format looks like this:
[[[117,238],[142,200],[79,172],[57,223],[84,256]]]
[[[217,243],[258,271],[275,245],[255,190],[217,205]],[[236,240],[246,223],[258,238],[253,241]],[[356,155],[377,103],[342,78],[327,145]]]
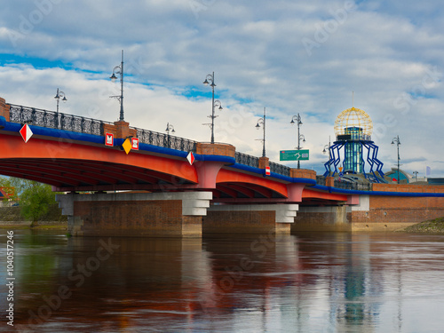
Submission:
[[[373,123],[370,116],[356,107],[347,108],[337,116],[335,121],[337,139],[344,135],[354,134],[352,139],[370,140],[372,132]],[[356,134],[358,134],[358,138],[356,138]]]

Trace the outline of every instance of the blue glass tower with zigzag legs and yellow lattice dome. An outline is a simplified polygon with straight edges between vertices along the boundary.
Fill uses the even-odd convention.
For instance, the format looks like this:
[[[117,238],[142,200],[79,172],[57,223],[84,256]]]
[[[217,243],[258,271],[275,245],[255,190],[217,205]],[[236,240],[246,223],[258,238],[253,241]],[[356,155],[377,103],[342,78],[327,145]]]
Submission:
[[[337,140],[329,147],[329,162],[325,163],[324,176],[342,173],[362,174],[372,183],[385,182],[383,163],[377,159],[378,147],[371,140],[373,123],[367,113],[352,107],[344,110],[335,121]],[[338,165],[342,168],[338,171]],[[369,171],[366,172],[366,162]]]

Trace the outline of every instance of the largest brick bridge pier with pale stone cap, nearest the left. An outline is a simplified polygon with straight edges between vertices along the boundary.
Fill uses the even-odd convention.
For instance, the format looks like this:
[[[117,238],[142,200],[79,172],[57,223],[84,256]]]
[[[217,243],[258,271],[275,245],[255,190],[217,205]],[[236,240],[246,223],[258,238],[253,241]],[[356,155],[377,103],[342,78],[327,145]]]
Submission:
[[[75,236],[201,237],[211,192],[58,194]]]

